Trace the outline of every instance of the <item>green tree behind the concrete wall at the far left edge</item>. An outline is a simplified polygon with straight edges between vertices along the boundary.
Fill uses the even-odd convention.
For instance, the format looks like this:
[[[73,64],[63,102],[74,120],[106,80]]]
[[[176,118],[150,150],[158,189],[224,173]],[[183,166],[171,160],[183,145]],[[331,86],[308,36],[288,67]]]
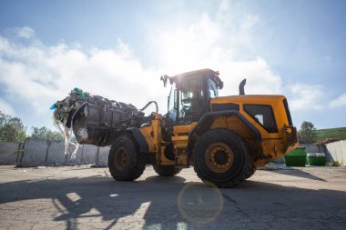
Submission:
[[[25,130],[20,118],[5,115],[0,111],[0,141],[24,142]]]

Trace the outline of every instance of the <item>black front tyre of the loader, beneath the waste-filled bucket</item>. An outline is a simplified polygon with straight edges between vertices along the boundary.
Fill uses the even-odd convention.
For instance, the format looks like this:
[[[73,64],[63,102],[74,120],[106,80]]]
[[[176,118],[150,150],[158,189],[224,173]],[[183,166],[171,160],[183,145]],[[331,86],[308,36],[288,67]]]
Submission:
[[[133,181],[143,174],[146,162],[136,142],[127,135],[117,138],[108,155],[109,172],[118,181]]]

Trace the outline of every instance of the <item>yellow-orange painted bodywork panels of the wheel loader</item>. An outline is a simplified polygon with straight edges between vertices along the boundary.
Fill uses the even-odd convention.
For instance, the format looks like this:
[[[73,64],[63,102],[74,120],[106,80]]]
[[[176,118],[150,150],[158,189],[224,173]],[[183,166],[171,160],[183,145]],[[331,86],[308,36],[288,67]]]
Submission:
[[[297,133],[289,126],[289,120],[285,111],[282,101],[285,99],[283,95],[231,95],[224,97],[217,97],[211,99],[210,110],[214,104],[237,104],[239,105],[239,113],[243,115],[249,123],[254,125],[261,135],[260,145],[261,150],[258,149],[255,136],[249,130],[249,127],[242,123],[237,116],[220,116],[216,118],[209,129],[226,128],[236,132],[240,135],[249,145],[250,152],[261,151],[261,157],[254,157],[254,165],[261,166],[274,161],[282,155],[285,155],[290,150],[298,146]],[[275,117],[275,122],[278,127],[278,132],[269,133],[262,125],[251,117],[243,109],[243,105],[270,105]],[[212,112],[212,111],[211,111]],[[162,129],[165,129],[165,121],[162,120],[161,115],[153,115],[153,119],[148,126],[140,128],[141,133],[145,136],[148,142],[149,152],[155,155],[156,165],[177,165],[187,166],[193,165],[190,159],[188,162],[188,134],[198,125],[194,122],[190,125],[174,125],[173,136],[171,142],[174,145],[174,154],[176,159],[170,160],[164,155],[166,147],[165,141],[161,138]],[[293,132],[293,133],[292,133]],[[292,137],[293,135],[293,137]],[[290,140],[289,140],[289,139]],[[293,141],[292,141],[293,140]]]

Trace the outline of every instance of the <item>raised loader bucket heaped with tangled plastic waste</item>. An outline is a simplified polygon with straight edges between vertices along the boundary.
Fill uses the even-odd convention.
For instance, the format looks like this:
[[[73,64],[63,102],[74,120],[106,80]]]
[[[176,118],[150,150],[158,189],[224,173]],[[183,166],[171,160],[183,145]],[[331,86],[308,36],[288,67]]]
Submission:
[[[57,101],[51,109],[54,110],[55,124],[65,135],[65,154],[71,143],[72,131],[78,144],[105,146],[110,145],[115,138],[112,135],[118,131],[144,123],[144,113],[134,105],[90,95],[78,88]],[[76,155],[76,150],[73,155]]]

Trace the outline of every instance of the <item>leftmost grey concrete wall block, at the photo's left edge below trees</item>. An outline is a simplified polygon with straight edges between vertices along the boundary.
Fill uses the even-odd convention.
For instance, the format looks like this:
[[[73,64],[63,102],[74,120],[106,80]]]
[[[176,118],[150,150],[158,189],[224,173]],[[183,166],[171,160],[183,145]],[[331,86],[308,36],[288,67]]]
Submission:
[[[15,165],[20,143],[0,142],[0,165]]]

